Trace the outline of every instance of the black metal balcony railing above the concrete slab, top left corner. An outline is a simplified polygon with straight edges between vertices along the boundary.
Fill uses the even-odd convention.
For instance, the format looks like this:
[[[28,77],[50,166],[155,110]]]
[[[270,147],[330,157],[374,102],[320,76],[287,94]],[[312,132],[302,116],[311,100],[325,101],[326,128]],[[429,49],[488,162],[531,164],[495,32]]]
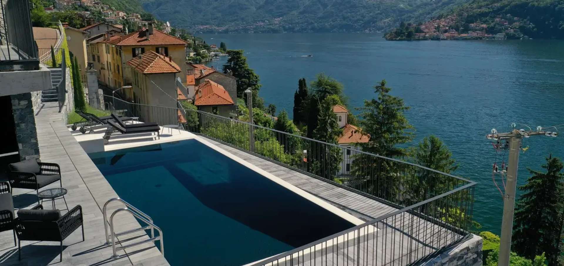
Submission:
[[[39,69],[29,1],[0,1],[0,11],[0,70]]]

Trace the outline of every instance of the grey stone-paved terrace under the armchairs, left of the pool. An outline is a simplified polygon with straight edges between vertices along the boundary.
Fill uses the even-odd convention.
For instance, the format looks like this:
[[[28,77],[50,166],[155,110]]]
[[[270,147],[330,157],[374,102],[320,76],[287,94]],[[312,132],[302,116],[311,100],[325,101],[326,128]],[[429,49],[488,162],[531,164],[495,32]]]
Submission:
[[[70,209],[81,205],[84,217],[85,241],[81,229],[77,229],[63,241],[63,261],[59,263],[59,242],[21,242],[21,260],[18,260],[17,247],[14,246],[12,231],[0,232],[0,265],[169,265],[153,243],[146,243],[118,252],[120,259],[111,259],[111,246],[104,246],[104,221],[102,207],[109,198],[117,194],[105,180],[98,168],[70,134],[64,125],[64,113],[58,113],[58,103],[45,103],[36,114],[39,151],[43,162],[58,163],[61,167],[63,187],[68,189],[65,196]],[[58,183],[47,188],[58,187]],[[36,192],[29,189],[14,189],[16,209],[29,209],[37,205]],[[63,209],[62,200],[56,202]],[[45,209],[51,203],[45,201]],[[111,203],[108,213],[122,207]],[[17,211],[16,211],[17,212]],[[61,211],[64,214],[66,211]],[[109,216],[109,215],[108,215]],[[116,232],[140,227],[130,214],[122,212],[116,216]],[[148,238],[144,232],[129,234],[124,244]]]

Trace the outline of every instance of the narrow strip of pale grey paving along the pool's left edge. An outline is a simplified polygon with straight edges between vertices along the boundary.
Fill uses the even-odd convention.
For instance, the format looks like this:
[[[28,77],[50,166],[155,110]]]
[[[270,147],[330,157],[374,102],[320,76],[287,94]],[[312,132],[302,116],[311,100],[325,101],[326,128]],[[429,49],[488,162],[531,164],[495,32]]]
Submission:
[[[63,148],[67,150],[70,160],[72,161],[78,174],[85,183],[92,198],[94,198],[94,201],[98,205],[100,209],[100,215],[102,215],[104,203],[110,198],[118,197],[117,193],[113,190],[111,185],[102,175],[102,172],[98,170],[98,167],[94,165],[94,162],[92,162],[88,154],[86,154],[86,152],[82,149],[81,145],[78,144],[76,139],[74,139],[74,136],[70,134],[65,123],[63,121],[53,121],[50,123],[50,125],[55,131],[55,134],[60,140]],[[111,213],[119,207],[124,206],[121,205],[121,203],[111,203],[110,205],[108,205],[108,219]],[[120,219],[117,222],[119,223],[119,225],[116,225],[116,227],[129,227],[129,229],[141,227],[139,222],[129,214],[121,214]],[[124,229],[117,229],[116,231],[121,232],[122,230]],[[148,238],[147,234],[144,231],[139,233],[144,234],[143,237]],[[100,232],[100,234],[103,235],[104,232]],[[166,259],[164,259],[164,257],[161,255],[161,252],[158,251],[154,243],[146,243],[137,247],[139,247],[139,249],[136,249],[136,247],[131,247],[130,249],[125,250],[125,253],[129,257],[129,260],[133,265],[144,263],[146,260],[158,260],[161,262],[166,261]],[[133,252],[140,249],[146,250],[138,253]],[[130,253],[134,254],[131,255]]]

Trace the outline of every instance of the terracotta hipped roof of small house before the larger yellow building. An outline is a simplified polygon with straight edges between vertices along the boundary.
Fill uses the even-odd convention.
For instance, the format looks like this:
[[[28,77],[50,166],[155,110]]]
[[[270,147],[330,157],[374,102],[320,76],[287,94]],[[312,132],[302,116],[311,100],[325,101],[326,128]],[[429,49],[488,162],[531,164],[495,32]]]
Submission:
[[[162,74],[178,73],[180,67],[169,57],[157,54],[154,51],[147,51],[143,55],[134,57],[127,61],[127,65],[143,74]]]

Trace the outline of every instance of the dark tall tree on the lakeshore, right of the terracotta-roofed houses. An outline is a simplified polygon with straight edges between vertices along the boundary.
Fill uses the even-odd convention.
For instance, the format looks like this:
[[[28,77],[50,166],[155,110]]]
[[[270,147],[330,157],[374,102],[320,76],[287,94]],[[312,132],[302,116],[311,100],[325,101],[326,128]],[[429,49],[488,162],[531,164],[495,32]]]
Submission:
[[[258,91],[261,88],[258,83],[260,79],[247,64],[243,50],[229,50],[227,55],[229,59],[223,65],[223,73],[231,73],[233,77],[237,78],[237,97],[242,97],[243,92],[250,88],[253,92],[253,107],[264,109],[264,100],[258,96]]]

